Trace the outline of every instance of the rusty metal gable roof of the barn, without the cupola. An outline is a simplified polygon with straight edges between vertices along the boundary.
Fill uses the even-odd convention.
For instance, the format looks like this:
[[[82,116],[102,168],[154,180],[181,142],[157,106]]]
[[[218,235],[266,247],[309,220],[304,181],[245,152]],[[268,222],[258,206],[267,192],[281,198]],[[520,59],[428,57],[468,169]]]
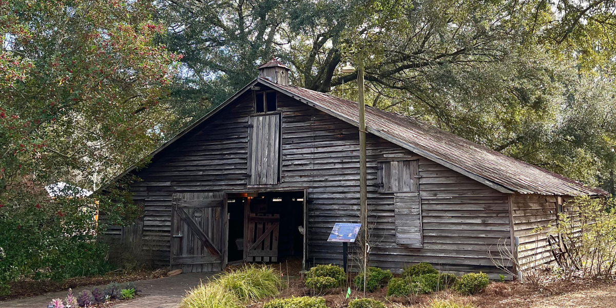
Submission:
[[[359,106],[357,102],[302,87],[282,86],[264,78],[257,78],[219,107],[161,145],[150,156],[156,155],[156,153],[161,152],[168,145],[192,131],[256,83],[272,87],[342,121],[359,126]],[[399,115],[370,106],[366,106],[365,115],[367,132],[400,147],[407,148],[411,152],[460,172],[503,193],[519,192],[570,196],[607,195],[607,192],[601,189],[588,187],[560,174],[516,160],[410,116]],[[120,179],[132,169],[134,167],[123,172],[113,181]],[[101,187],[101,189],[105,187]]]

